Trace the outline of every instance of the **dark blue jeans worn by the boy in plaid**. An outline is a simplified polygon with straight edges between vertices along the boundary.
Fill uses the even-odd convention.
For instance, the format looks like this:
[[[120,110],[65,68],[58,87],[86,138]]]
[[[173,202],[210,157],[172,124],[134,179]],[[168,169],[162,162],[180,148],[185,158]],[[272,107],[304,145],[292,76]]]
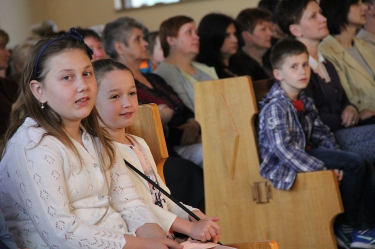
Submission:
[[[375,228],[375,173],[373,165],[358,154],[324,148],[307,151],[328,169],[343,171],[339,183],[344,213],[336,222],[357,230]]]

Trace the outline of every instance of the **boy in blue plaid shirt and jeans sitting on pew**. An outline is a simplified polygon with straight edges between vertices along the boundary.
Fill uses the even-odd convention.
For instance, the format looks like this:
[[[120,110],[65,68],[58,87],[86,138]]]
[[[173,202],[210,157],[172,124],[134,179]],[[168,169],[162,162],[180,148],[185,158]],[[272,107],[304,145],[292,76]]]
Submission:
[[[298,172],[333,169],[345,210],[335,221],[338,245],[375,248],[373,166],[338,149],[302,91],[310,77],[306,47],[283,39],[272,49],[271,64],[276,81],[259,103],[260,174],[275,188],[289,190]]]

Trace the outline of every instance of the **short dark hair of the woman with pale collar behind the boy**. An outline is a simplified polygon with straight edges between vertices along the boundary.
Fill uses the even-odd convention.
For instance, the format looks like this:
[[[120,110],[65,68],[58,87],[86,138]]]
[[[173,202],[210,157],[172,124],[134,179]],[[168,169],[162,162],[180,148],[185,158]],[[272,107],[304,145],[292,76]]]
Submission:
[[[289,30],[291,24],[299,24],[303,11],[310,1],[316,0],[281,0],[275,11],[275,20],[284,34],[293,36]]]

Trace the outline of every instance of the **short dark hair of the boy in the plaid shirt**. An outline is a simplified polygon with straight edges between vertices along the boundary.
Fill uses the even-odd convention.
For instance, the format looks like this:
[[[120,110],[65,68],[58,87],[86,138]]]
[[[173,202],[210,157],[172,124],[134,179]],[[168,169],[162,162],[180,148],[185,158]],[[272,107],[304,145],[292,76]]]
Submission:
[[[302,42],[291,38],[280,39],[271,50],[272,69],[280,69],[286,57],[301,53],[308,55],[307,48]]]

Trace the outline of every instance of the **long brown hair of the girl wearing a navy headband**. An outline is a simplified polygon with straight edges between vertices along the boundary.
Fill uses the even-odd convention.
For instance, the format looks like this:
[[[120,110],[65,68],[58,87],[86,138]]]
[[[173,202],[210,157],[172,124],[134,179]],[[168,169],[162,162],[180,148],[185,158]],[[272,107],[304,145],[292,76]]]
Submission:
[[[48,104],[45,105],[44,109],[41,109],[39,101],[34,97],[29,87],[31,80],[37,80],[40,84],[43,84],[49,69],[48,63],[50,59],[58,56],[66,49],[79,49],[86,52],[88,57],[90,56],[89,50],[87,50],[89,48],[84,42],[70,36],[42,39],[32,48],[19,82],[19,96],[10,112],[10,124],[0,142],[1,158],[6,152],[9,139],[27,117],[32,118],[38,127],[45,129],[46,133],[43,134],[43,138],[45,136],[57,138],[79,157],[77,149],[62,126],[61,117],[52,108],[48,107]],[[35,66],[36,61],[37,65]],[[110,168],[115,161],[115,149],[109,134],[100,128],[97,121],[98,116],[99,114],[94,107],[91,113],[81,120],[81,125],[90,135],[98,138],[102,146],[98,144],[96,147],[100,151],[102,163],[106,165],[105,162],[107,160],[105,158],[109,158],[109,165],[106,165],[105,168]]]

